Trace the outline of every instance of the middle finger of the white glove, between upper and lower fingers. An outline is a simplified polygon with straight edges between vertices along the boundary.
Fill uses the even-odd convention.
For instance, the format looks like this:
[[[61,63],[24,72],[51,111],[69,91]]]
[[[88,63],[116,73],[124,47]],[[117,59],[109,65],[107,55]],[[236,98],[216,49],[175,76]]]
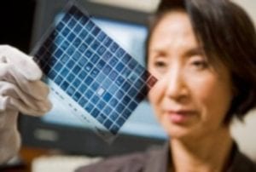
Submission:
[[[36,100],[44,100],[49,94],[49,88],[40,80],[29,81],[12,64],[0,63],[0,81],[7,81],[18,85],[23,92]]]

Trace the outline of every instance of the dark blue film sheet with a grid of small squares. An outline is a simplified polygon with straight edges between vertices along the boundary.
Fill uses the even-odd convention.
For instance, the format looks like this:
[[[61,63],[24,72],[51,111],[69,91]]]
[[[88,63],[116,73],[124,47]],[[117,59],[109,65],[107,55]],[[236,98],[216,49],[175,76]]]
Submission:
[[[36,49],[34,60],[113,135],[156,82],[75,5]]]

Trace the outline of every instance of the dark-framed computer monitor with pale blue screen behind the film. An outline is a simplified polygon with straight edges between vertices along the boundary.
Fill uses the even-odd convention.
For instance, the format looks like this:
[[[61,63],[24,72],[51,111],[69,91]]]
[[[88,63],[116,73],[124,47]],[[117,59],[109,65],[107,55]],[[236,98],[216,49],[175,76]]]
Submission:
[[[67,1],[64,0],[37,1],[32,47],[50,25],[55,26],[60,20],[65,3]],[[148,33],[147,13],[87,1],[79,3],[93,16],[96,25],[143,64],[144,43]],[[54,148],[91,156],[109,156],[143,151],[148,146],[162,144],[166,140],[166,134],[156,122],[147,100],[144,100],[131,114],[112,144],[102,140],[73,114],[63,112],[61,102],[53,103],[57,108],[42,118],[20,116],[23,145]]]

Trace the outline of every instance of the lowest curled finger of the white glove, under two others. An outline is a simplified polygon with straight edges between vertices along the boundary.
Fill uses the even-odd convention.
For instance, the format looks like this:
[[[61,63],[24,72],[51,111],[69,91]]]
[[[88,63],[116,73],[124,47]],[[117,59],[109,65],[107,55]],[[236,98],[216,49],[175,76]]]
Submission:
[[[40,91],[40,90],[38,90]],[[18,87],[15,86],[13,83],[3,82],[0,81],[0,95],[2,95],[2,98],[0,99],[1,109],[0,111],[4,111],[7,108],[17,108],[20,112],[26,112],[22,107],[26,107],[27,111],[34,112],[36,111],[36,114],[41,114],[48,112],[51,108],[51,104],[47,97],[42,100],[36,100],[32,96],[27,95],[26,93],[22,92]],[[9,99],[12,99],[10,101]],[[18,101],[16,101],[18,100]],[[15,104],[9,105],[10,102],[15,102]],[[17,103],[18,102],[18,103]],[[29,113],[30,114],[30,113]]]

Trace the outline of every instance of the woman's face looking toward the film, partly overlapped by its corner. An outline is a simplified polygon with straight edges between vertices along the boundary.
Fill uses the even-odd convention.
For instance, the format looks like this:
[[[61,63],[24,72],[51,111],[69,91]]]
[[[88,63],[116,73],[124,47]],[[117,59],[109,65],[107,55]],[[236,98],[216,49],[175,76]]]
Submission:
[[[161,125],[173,137],[208,135],[223,124],[230,108],[230,72],[213,70],[183,11],[165,14],[148,47],[148,70],[159,81],[149,101]]]

